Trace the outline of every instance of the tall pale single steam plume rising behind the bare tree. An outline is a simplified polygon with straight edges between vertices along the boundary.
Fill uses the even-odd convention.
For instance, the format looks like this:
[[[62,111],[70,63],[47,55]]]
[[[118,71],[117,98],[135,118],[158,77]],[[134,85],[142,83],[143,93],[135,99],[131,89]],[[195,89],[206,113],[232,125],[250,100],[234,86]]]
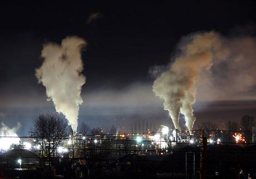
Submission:
[[[78,37],[67,37],[61,45],[45,44],[41,54],[43,64],[36,69],[38,82],[46,87],[48,101],[53,101],[56,111],[67,118],[73,131],[77,130],[79,105],[83,102],[80,94],[86,78],[81,74],[81,48],[85,44]]]

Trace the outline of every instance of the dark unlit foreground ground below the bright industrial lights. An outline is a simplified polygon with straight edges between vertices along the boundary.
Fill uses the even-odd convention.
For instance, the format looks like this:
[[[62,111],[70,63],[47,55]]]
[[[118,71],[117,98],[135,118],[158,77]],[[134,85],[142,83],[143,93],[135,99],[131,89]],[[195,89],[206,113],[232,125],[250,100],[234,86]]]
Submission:
[[[27,150],[12,150],[0,157],[0,178],[200,178],[202,148],[186,146],[156,153],[95,153],[85,158],[46,158]],[[21,168],[17,157],[23,158]],[[256,146],[209,145],[206,178],[256,178]]]

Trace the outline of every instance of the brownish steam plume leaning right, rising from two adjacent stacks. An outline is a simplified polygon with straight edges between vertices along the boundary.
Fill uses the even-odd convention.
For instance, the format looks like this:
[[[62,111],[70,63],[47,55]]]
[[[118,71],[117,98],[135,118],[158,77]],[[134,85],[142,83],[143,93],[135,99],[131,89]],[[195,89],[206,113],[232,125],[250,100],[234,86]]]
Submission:
[[[186,126],[191,131],[195,122],[192,105],[196,100],[196,82],[200,72],[208,71],[215,61],[223,61],[229,51],[214,32],[184,39],[180,51],[170,69],[155,80],[152,90],[164,100],[164,109],[169,111],[175,128],[178,129],[179,115],[183,113]]]

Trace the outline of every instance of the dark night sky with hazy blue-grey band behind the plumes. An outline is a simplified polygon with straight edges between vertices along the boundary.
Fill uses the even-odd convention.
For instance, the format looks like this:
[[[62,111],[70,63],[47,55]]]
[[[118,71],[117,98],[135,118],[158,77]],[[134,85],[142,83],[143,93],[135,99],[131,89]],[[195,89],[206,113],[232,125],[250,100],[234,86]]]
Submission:
[[[114,118],[125,118],[127,128],[141,119],[172,126],[151,91],[150,69],[167,65],[180,39],[190,33],[255,36],[255,18],[254,1],[1,2],[0,120],[11,127],[21,122],[19,133],[26,135],[37,115],[54,111],[45,87],[37,84],[35,68],[42,64],[44,43],[75,35],[88,43],[82,52],[87,80],[79,122],[107,128]],[[254,91],[250,95],[255,97]],[[244,100],[202,99],[194,105],[195,125],[256,116],[250,95]]]

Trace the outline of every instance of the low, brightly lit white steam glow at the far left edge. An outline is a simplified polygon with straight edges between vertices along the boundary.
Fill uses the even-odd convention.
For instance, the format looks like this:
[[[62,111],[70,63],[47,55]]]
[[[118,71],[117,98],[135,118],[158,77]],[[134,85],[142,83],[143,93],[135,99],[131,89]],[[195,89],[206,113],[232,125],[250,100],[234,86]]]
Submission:
[[[18,144],[20,138],[17,135],[17,131],[21,128],[21,123],[17,123],[17,125],[13,128],[9,128],[1,122],[2,127],[0,127],[0,150],[8,150],[8,148],[12,144]]]

